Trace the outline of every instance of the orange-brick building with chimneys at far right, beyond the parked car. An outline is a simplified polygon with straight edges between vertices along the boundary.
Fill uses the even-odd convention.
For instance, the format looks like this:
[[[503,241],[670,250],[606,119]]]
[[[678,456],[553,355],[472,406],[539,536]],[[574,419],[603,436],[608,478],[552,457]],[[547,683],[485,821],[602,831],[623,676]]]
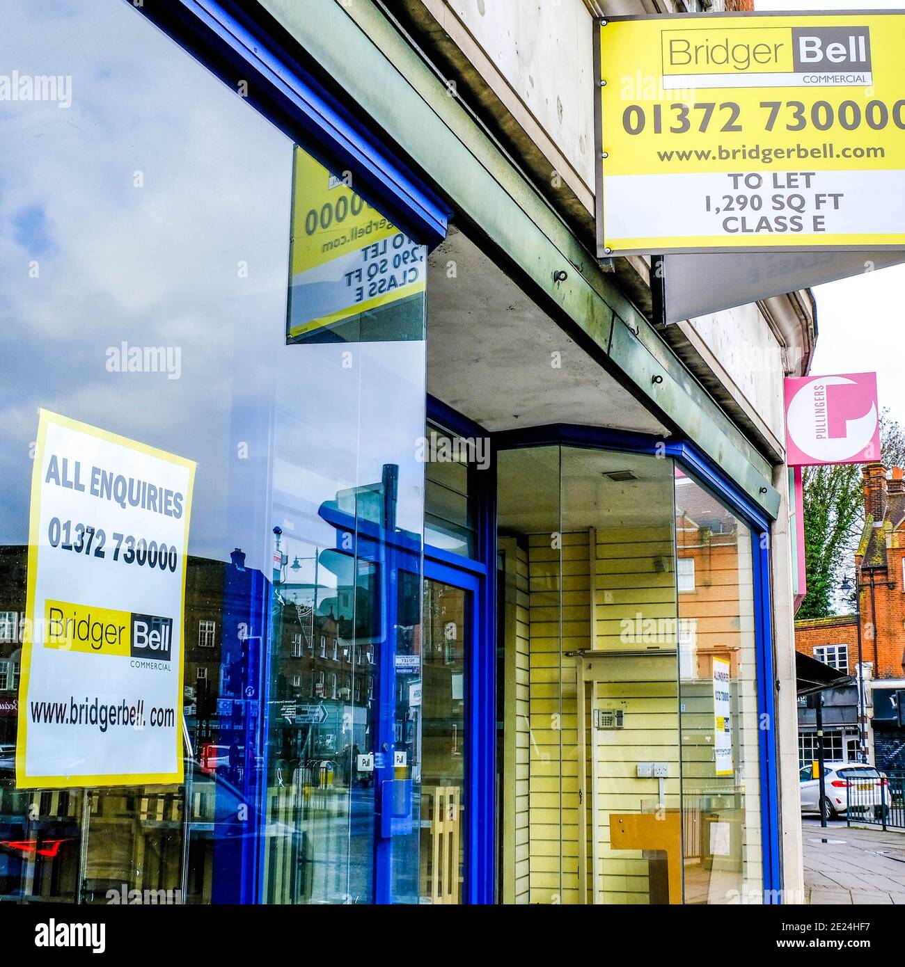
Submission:
[[[864,528],[855,555],[868,755],[881,768],[905,768],[905,728],[896,692],[905,689],[905,482],[902,469],[865,464]],[[796,622],[796,650],[849,674],[858,672],[858,620],[839,615]],[[835,694],[839,692],[840,694]],[[847,693],[847,694],[842,694]],[[834,689],[825,709],[828,758],[853,758],[850,705],[858,689]],[[813,712],[799,708],[799,757],[813,746]],[[857,735],[857,726],[856,726]],[[857,742],[856,742],[857,746]]]

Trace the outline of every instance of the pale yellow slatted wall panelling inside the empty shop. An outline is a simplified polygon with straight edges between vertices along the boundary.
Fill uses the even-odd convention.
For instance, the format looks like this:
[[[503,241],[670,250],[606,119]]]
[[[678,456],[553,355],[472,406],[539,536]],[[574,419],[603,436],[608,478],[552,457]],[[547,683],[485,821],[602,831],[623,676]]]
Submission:
[[[597,633],[594,647],[607,651],[638,648],[649,643],[625,638],[643,632],[644,619],[666,619],[655,628],[666,629],[661,647],[675,649],[676,605],[669,525],[654,529],[596,531],[594,593]],[[529,870],[531,902],[579,901],[579,772],[577,759],[577,702],[575,661],[564,653],[588,649],[590,638],[590,564],[588,532],[561,536],[561,598],[558,593],[560,550],[550,536],[533,535],[528,542],[530,722],[529,757]],[[659,559],[659,562],[658,560]],[[560,603],[561,602],[561,603]],[[638,616],[641,623],[638,623]],[[559,630],[561,625],[561,640]],[[654,642],[656,644],[657,642]],[[679,792],[678,703],[676,659],[618,659],[614,657],[611,683],[599,689],[600,707],[613,706],[617,696],[628,709],[628,727],[602,735],[598,759],[598,806],[638,811],[647,796],[656,800],[655,780],[639,780],[635,764],[668,761],[672,777],[668,794]],[[615,670],[616,665],[624,670]],[[607,662],[610,675],[611,662]],[[651,680],[652,675],[652,680]],[[634,679],[633,679],[634,676]],[[657,681],[662,679],[663,681]],[[590,702],[586,705],[589,769]],[[662,740],[651,744],[651,731]],[[589,776],[589,773],[588,773]],[[652,782],[652,787],[650,783]],[[673,788],[675,786],[675,788]],[[592,890],[592,816],[588,790],[588,881]],[[678,805],[678,799],[677,799]],[[601,831],[601,869],[606,902],[648,902],[647,861],[609,850],[608,826]],[[603,881],[601,881],[602,883]],[[598,883],[598,888],[601,887]]]

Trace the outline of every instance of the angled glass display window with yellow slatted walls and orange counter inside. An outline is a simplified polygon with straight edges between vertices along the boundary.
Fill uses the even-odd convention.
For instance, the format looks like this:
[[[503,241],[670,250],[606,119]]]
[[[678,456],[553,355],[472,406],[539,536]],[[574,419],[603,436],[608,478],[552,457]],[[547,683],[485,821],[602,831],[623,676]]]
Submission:
[[[751,532],[655,454],[498,454],[499,891],[763,899]]]

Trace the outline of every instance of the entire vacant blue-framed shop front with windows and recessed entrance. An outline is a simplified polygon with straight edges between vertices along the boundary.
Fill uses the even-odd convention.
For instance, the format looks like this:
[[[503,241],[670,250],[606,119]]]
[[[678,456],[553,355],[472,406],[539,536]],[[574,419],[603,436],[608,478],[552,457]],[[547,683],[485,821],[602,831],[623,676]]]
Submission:
[[[769,465],[246,29],[10,26],[0,897],[763,901]]]

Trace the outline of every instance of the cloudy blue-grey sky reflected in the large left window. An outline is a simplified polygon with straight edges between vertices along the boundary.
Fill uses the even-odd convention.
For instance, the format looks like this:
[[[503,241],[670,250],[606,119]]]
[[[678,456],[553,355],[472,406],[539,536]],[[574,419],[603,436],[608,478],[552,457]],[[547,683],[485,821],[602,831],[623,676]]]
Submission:
[[[195,555],[269,575],[279,525],[310,557],[320,504],[384,463],[419,531],[423,342],[287,346],[287,136],[129,4],[4,16],[5,63],[72,103],[0,102],[0,545],[27,542],[39,407],[195,460]],[[124,342],[178,378],[111,370]]]

